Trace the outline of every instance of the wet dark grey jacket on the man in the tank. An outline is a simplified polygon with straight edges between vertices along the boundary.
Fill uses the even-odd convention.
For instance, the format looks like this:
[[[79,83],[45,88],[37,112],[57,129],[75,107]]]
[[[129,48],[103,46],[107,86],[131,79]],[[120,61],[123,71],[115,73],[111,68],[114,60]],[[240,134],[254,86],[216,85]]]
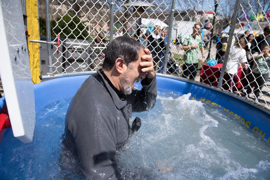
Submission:
[[[83,172],[93,179],[121,179],[116,149],[128,139],[131,112],[155,105],[157,82],[143,79],[141,90],[133,90],[122,101],[99,69],[76,92],[65,117],[66,145],[78,153]],[[151,107],[151,108],[152,108]],[[149,108],[149,107],[148,107]],[[127,120],[126,120],[127,119]]]

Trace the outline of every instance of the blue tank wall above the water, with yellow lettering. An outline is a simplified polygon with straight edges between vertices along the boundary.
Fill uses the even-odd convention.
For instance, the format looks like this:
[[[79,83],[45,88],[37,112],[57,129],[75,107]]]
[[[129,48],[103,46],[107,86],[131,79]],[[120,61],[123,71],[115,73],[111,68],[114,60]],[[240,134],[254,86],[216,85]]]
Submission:
[[[40,111],[47,104],[55,102],[59,98],[72,97],[88,76],[61,77],[35,84],[35,111]],[[157,85],[158,88],[175,94],[191,93],[191,99],[224,110],[231,115],[232,119],[239,121],[244,128],[261,136],[270,145],[270,111],[267,108],[233,93],[176,76],[158,74]],[[4,97],[0,100],[0,107],[2,107]]]

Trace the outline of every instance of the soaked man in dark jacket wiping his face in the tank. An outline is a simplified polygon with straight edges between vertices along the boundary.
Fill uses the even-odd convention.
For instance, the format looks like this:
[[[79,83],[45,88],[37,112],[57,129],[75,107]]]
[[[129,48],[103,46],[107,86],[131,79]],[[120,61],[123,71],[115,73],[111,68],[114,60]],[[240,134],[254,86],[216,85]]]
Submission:
[[[140,79],[143,88],[133,89]],[[122,179],[116,150],[128,139],[131,112],[155,105],[157,83],[150,51],[125,36],[107,46],[102,69],[76,92],[65,117],[64,145],[91,179]]]

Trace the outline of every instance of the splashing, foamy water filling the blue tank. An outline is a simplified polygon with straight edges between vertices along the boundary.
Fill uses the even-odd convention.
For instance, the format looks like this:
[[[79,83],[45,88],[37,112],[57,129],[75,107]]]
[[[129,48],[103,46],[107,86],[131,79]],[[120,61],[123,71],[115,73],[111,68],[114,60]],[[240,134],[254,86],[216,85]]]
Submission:
[[[126,179],[270,179],[270,147],[224,111],[159,89],[155,107],[117,152]],[[86,179],[61,143],[70,98],[36,113],[32,143],[7,131],[2,179]],[[8,143],[7,143],[8,142]]]

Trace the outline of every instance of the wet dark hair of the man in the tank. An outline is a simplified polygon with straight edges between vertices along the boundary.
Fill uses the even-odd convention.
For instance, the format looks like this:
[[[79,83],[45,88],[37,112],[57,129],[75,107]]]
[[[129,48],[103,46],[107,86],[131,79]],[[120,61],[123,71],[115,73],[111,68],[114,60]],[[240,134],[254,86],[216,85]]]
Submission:
[[[115,38],[107,45],[102,69],[112,70],[117,58],[122,58],[128,66],[139,58],[143,48],[142,44],[127,36]]]

